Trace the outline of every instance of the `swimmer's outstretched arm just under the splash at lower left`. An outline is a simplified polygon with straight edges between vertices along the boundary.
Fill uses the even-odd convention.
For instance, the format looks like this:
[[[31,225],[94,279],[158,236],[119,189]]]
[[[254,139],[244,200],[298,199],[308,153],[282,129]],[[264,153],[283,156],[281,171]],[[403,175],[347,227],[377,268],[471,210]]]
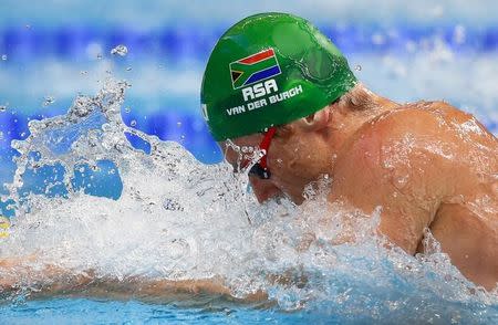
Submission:
[[[30,289],[30,296],[77,295],[114,298],[175,298],[180,295],[220,295],[232,297],[219,276],[198,280],[163,280],[133,275],[123,279],[97,276],[93,270],[74,271],[56,264],[43,264],[35,255],[0,260],[0,294]],[[258,291],[243,302],[266,301]]]

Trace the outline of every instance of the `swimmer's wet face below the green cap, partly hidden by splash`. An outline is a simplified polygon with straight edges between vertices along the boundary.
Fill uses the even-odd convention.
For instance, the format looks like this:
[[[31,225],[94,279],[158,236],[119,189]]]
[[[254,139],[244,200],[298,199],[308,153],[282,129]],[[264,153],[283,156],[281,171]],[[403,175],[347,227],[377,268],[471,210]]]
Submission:
[[[220,143],[225,158],[235,171],[239,170],[241,161],[250,160],[251,149],[257,150],[262,138],[262,134],[255,134]],[[321,157],[321,148],[318,138],[310,133],[294,125],[279,127],[267,155],[271,177],[261,179],[249,175],[258,201],[288,197],[297,205],[302,203],[304,187],[320,176],[321,165],[326,164]]]

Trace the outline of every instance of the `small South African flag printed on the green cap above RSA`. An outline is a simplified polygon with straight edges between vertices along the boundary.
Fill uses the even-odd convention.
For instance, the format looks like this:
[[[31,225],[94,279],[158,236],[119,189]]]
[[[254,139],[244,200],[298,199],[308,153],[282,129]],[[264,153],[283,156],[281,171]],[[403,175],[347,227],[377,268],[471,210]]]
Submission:
[[[230,63],[234,90],[251,85],[280,74],[273,49],[268,49]]]

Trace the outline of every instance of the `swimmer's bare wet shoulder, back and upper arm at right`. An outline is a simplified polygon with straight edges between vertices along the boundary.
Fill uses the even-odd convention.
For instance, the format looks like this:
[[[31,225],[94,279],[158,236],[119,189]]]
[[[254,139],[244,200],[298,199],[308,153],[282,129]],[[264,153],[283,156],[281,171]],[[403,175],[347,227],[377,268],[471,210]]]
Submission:
[[[498,281],[498,140],[443,102],[384,112],[344,145],[331,199],[371,213],[409,253],[429,228],[452,262],[487,289]]]

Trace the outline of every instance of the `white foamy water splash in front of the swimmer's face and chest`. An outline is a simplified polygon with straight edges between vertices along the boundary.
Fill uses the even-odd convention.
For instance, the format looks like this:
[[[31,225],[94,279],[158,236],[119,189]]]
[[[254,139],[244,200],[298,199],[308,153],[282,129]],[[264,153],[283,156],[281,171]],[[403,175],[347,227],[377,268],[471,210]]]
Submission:
[[[465,280],[429,232],[425,255],[388,248],[375,231],[382,209],[365,216],[329,203],[328,177],[305,189],[300,207],[286,199],[259,206],[231,166],[203,165],[178,144],[126,126],[127,87],[110,80],[96,96],[77,96],[66,115],[31,120],[28,138],[12,143],[17,170],[1,199],[13,201],[17,217],[0,260],[35,255],[35,268],[116,281],[218,276],[236,297],[262,290],[279,310],[343,322],[496,319],[497,293]],[[125,134],[148,143],[149,153]],[[60,177],[42,192],[28,190],[28,176],[48,167]],[[118,177],[107,184],[116,196],[87,195],[76,181],[85,175],[94,186],[91,177],[102,172]],[[0,277],[12,272],[0,268]],[[40,289],[20,277],[20,293]]]

